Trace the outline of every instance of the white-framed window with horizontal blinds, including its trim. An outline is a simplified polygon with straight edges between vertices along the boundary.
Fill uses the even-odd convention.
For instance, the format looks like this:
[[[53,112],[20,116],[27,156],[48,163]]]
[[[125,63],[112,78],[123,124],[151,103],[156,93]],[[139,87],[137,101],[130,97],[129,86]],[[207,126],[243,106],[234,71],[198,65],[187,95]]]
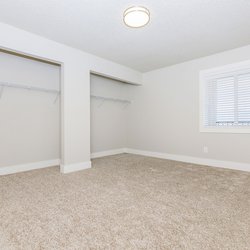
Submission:
[[[200,73],[200,131],[250,133],[250,61]]]

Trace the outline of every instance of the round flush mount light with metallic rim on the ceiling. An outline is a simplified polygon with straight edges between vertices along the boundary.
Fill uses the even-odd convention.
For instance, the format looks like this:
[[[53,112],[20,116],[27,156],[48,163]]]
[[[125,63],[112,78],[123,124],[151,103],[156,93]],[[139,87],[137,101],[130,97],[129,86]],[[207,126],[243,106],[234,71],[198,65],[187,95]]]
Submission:
[[[140,28],[148,24],[150,12],[142,6],[133,6],[124,11],[123,21],[131,28]]]

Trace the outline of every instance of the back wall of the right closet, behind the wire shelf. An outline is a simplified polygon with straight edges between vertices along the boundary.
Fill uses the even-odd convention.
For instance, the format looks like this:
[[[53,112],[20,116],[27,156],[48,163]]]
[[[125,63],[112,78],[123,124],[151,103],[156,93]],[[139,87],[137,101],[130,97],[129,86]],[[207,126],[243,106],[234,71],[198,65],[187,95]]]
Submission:
[[[128,84],[91,75],[91,153],[127,146],[128,106],[131,104],[93,97],[129,100]],[[134,86],[136,88],[136,86]]]

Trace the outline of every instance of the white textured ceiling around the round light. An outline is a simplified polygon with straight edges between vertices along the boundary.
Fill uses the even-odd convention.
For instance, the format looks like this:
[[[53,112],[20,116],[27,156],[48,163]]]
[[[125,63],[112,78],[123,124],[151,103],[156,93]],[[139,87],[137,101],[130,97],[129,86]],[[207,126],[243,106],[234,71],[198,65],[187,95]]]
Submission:
[[[151,22],[131,29],[137,4]],[[1,0],[0,22],[142,72],[250,44],[250,0]]]

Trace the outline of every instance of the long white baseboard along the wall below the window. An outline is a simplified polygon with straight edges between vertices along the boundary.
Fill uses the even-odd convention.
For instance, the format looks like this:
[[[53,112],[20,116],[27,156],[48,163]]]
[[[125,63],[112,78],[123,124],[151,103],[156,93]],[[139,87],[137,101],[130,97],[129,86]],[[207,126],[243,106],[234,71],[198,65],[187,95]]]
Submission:
[[[156,158],[173,160],[173,161],[180,161],[180,162],[187,162],[187,163],[193,163],[193,164],[198,164],[198,165],[206,165],[206,166],[211,166],[211,167],[228,168],[228,169],[250,172],[250,164],[248,163],[221,161],[221,160],[198,158],[198,157],[192,157],[192,156],[186,156],[186,155],[165,154],[165,153],[143,151],[143,150],[137,150],[137,149],[131,149],[131,148],[125,149],[125,153],[138,154],[138,155],[156,157]]]

